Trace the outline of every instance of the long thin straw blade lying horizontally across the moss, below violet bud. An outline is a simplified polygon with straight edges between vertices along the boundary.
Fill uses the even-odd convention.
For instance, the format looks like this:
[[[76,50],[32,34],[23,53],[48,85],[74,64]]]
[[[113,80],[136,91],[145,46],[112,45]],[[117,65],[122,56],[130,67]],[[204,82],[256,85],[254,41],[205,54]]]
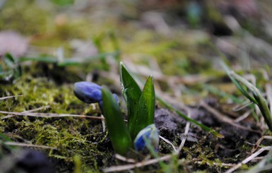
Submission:
[[[78,118],[86,118],[86,119],[104,119],[103,117],[78,115],[78,114],[52,114],[52,113],[31,113],[31,112],[5,112],[5,111],[0,111],[0,113],[21,115],[21,116],[28,116],[28,117],[42,117],[42,118],[78,117]],[[6,119],[6,117],[3,117],[2,119]]]

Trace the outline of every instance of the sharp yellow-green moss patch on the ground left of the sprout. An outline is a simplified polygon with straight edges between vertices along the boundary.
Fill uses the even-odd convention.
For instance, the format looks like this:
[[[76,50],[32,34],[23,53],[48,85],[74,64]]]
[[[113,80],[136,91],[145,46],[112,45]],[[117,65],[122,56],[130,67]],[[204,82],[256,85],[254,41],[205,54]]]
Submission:
[[[49,105],[48,109],[41,112],[97,114],[97,110],[73,96],[71,85],[56,85],[46,78],[23,77],[14,84],[0,85],[0,90],[1,97],[23,95],[0,102],[4,111],[23,112]],[[4,114],[1,117],[4,117]],[[46,151],[52,158],[73,163],[73,156],[79,155],[85,170],[94,165],[102,167],[104,162],[108,162],[112,157],[113,150],[108,139],[105,140],[107,133],[102,132],[102,124],[99,120],[73,117],[50,119],[11,117],[1,119],[0,124],[0,132],[6,133],[13,141],[57,148],[57,150]],[[97,169],[97,166],[93,169]]]

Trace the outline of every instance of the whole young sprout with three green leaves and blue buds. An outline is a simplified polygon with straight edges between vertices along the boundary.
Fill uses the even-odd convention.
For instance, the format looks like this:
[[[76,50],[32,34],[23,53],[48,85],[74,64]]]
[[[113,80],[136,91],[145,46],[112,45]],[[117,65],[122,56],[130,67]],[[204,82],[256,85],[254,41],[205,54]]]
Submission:
[[[95,83],[78,82],[74,84],[74,94],[85,103],[98,103],[105,116],[107,130],[112,147],[120,155],[133,148],[146,153],[148,144],[158,151],[159,134],[154,123],[155,90],[153,76],[149,76],[143,91],[131,76],[129,71],[120,63],[120,80],[122,93],[128,110],[126,126],[118,105],[118,97],[110,90]]]

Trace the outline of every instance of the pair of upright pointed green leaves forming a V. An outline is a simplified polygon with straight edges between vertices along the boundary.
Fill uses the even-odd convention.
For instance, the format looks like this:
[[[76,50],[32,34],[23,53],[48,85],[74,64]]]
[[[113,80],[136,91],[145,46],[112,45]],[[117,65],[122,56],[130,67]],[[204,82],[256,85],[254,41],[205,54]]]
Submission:
[[[128,109],[128,127],[131,138],[139,131],[154,123],[155,90],[153,76],[149,76],[141,92],[140,87],[129,71],[120,63],[120,78],[126,106]]]

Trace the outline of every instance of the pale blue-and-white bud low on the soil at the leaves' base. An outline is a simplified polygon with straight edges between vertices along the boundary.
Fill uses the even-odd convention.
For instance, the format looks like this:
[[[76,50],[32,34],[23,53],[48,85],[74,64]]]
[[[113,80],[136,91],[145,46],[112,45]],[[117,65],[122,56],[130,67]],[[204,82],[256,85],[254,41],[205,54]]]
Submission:
[[[150,124],[143,130],[141,130],[134,140],[134,148],[136,151],[146,152],[148,151],[146,141],[150,143],[153,148],[158,151],[159,146],[159,133],[155,124]]]

